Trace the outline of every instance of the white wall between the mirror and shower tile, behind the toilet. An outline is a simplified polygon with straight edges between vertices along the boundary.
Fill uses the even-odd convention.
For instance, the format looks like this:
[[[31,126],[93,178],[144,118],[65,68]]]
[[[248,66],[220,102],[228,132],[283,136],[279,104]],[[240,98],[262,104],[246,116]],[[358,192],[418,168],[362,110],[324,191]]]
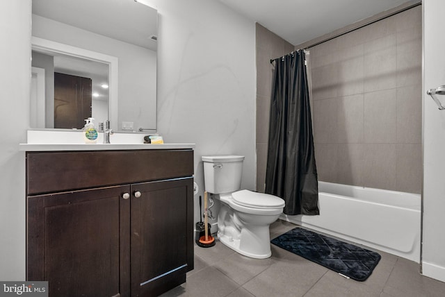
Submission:
[[[255,189],[255,25],[219,1],[140,0],[159,12],[158,132],[195,143],[195,221],[202,155],[245,155]]]

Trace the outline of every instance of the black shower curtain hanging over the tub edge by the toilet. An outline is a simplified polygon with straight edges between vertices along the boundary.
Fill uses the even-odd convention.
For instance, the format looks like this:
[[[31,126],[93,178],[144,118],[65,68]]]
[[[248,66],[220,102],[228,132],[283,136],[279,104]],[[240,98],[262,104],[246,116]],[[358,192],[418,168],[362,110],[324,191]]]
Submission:
[[[266,193],[284,199],[284,214],[319,214],[305,51],[275,59]]]

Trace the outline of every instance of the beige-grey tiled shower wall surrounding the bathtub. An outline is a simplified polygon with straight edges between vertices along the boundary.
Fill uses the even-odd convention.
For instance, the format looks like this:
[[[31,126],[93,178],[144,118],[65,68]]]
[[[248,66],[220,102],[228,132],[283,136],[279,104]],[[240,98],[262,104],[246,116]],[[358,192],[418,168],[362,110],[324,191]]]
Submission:
[[[421,192],[421,6],[310,48],[318,179]],[[264,191],[270,58],[293,46],[257,24],[257,190]]]

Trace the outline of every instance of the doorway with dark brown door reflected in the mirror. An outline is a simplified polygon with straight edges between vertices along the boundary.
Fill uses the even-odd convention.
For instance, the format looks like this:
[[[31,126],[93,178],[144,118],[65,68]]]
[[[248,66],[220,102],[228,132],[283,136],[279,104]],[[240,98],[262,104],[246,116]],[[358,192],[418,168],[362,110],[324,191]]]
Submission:
[[[88,117],[95,123],[108,119],[108,64],[71,55],[74,53],[67,55],[33,45],[33,128],[80,129]]]

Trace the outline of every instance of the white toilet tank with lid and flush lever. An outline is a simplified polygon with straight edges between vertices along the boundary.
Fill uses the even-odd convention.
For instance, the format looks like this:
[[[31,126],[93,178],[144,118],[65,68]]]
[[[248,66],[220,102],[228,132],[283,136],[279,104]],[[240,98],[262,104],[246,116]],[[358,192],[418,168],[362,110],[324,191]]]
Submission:
[[[213,194],[223,194],[241,189],[243,160],[243,155],[202,156],[205,190]]]

